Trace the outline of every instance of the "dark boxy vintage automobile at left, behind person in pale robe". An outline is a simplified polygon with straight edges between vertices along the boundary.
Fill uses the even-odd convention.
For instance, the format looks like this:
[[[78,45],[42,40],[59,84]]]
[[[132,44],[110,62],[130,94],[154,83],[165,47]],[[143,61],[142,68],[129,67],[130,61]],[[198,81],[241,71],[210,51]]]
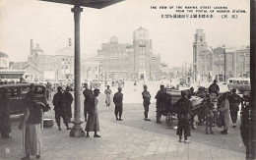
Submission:
[[[30,83],[2,84],[1,88],[8,89],[8,107],[10,115],[24,113],[27,103],[27,95],[30,91]],[[46,87],[43,84],[34,84],[35,103],[41,105],[44,112],[50,110],[46,100]]]

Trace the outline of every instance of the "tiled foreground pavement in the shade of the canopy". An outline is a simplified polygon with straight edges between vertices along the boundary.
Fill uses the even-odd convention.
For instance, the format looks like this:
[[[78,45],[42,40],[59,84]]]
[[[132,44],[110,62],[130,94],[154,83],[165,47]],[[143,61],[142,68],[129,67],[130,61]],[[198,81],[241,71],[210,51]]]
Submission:
[[[70,137],[70,131],[44,129],[42,160],[243,160],[245,154],[192,141],[178,142],[177,137],[123,126],[122,122],[100,120],[101,137]],[[22,132],[13,127],[13,137],[0,139],[0,159],[23,157]],[[85,124],[83,124],[84,127]],[[64,126],[63,126],[64,129]],[[8,151],[10,150],[10,152]]]

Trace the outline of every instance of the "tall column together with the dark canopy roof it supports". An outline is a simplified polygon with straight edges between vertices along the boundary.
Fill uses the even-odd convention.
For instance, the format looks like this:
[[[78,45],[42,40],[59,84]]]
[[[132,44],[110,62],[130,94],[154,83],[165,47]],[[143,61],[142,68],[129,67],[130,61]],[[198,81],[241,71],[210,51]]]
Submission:
[[[71,10],[74,13],[75,21],[75,120],[70,136],[85,136],[81,127],[81,60],[80,60],[80,13],[83,7],[101,9],[123,0],[40,0],[46,2],[74,5]]]

